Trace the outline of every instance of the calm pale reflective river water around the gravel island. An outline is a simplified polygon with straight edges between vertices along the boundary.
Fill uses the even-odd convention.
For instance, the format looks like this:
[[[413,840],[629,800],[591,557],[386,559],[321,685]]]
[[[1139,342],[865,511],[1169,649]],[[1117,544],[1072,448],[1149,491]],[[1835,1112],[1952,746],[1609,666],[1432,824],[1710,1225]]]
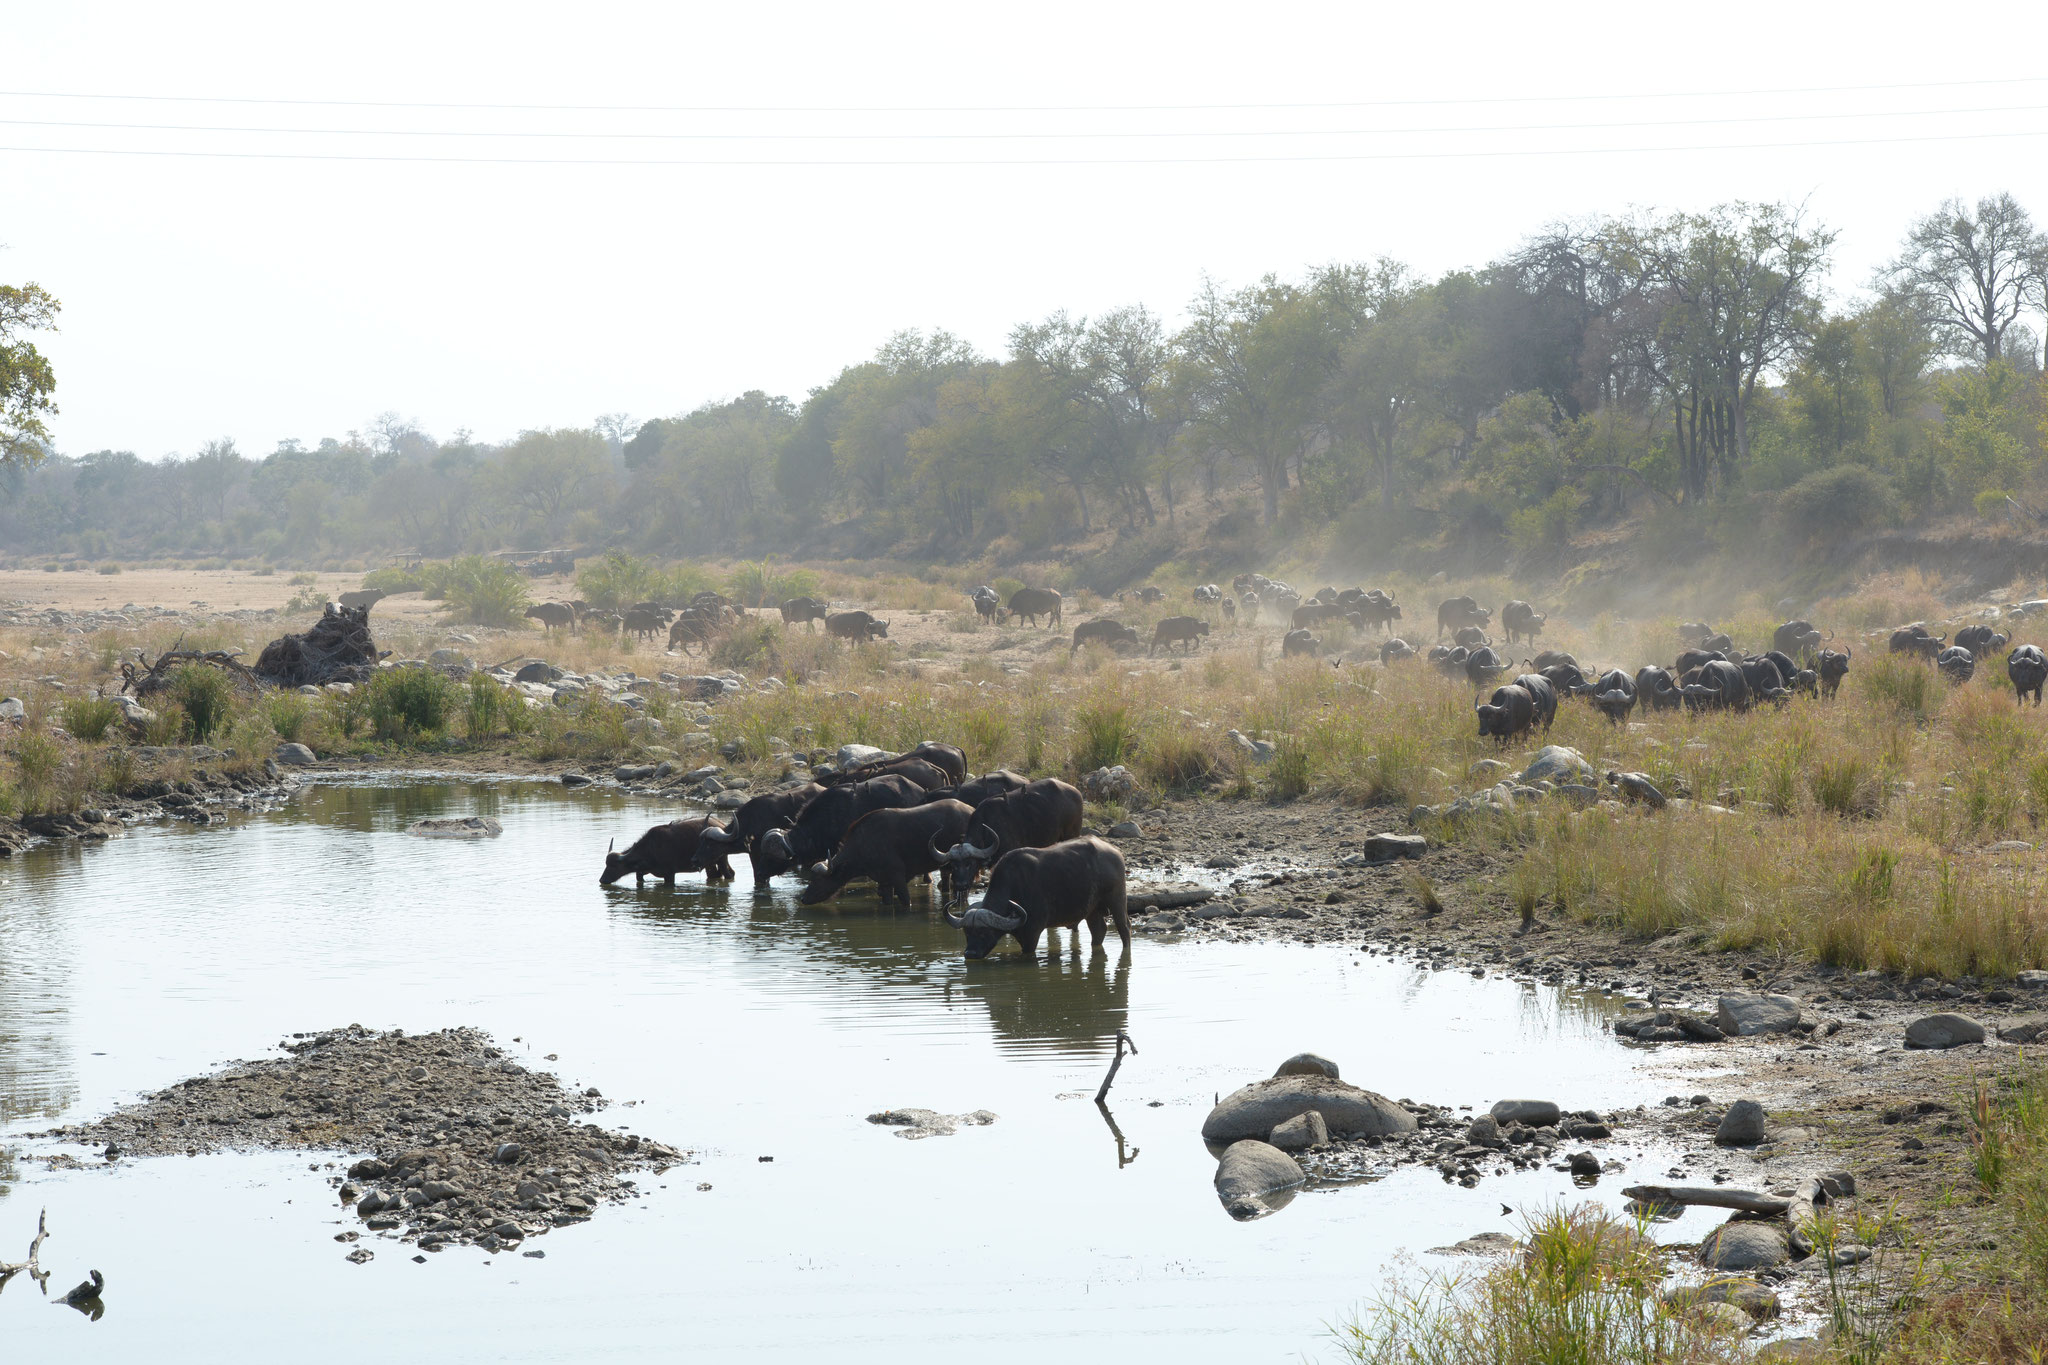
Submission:
[[[1196,1136],[1219,1091],[1300,1050],[1440,1103],[1614,1107],[1675,1085],[1602,1033],[1602,1001],[1337,948],[1139,935],[1122,960],[1114,939],[1094,958],[1063,933],[1053,962],[967,964],[922,911],[801,911],[793,886],[750,886],[743,862],[733,888],[600,890],[606,839],[674,812],[547,784],[319,786],[227,829],[0,864],[0,1134],[266,1056],[297,1029],[467,1023],[598,1087],[614,1101],[602,1121],[698,1152],[633,1205],[530,1242],[545,1259],[416,1265],[373,1238],[362,1267],[332,1240],[354,1220],[307,1156],[70,1173],[0,1158],[0,1259],[47,1207],[53,1289],[106,1275],[98,1322],[25,1281],[0,1293],[8,1355],[1337,1359],[1323,1324],[1403,1252],[1511,1228],[1503,1201],[1583,1195],[1554,1171],[1479,1189],[1399,1171],[1235,1224]],[[428,814],[492,814],[506,833],[403,833]],[[1112,1130],[1090,1095],[1118,1027],[1141,1054]],[[864,1121],[911,1105],[1001,1117],[922,1142]],[[1671,1160],[1604,1154],[1640,1175]],[[1620,1203],[1622,1183],[1593,1197]]]

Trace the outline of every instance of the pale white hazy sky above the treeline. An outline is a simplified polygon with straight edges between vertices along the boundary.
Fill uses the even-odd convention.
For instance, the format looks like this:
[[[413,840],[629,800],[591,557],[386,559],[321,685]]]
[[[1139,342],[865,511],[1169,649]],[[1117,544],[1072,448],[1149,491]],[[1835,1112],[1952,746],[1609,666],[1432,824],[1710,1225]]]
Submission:
[[[1630,207],[1806,201],[1853,291],[1948,194],[2048,217],[2044,14],[4,0],[0,282],[63,301],[59,448],[150,456],[801,397]]]

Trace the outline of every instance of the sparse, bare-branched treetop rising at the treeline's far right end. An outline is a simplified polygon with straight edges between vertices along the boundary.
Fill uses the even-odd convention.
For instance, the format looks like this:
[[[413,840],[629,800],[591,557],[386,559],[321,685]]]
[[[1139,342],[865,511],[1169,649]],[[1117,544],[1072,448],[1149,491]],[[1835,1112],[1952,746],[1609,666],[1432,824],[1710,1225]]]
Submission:
[[[1999,360],[2028,307],[2042,303],[2048,235],[2011,194],[1987,194],[1974,211],[1960,199],[1913,223],[1888,289],[1919,301],[1942,346],[1972,360]]]

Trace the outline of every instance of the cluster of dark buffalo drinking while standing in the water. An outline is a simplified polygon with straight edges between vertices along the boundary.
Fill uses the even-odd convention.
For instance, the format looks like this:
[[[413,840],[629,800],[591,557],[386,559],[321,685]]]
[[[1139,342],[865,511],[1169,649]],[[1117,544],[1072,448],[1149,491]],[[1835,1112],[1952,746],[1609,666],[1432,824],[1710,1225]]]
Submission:
[[[731,882],[735,851],[752,862],[756,886],[803,876],[803,905],[866,880],[883,905],[909,907],[911,882],[938,874],[936,902],[965,931],[969,958],[985,958],[1004,935],[1034,956],[1047,929],[1083,921],[1096,948],[1110,925],[1130,948],[1124,857],[1081,835],[1081,792],[1014,772],[969,778],[954,745],[821,769],[817,782],[754,796],[725,825],[707,817],[655,825],[623,853],[606,849],[598,884],[631,876],[635,886],[647,878],[674,886],[686,872]],[[983,874],[987,890],[969,909]]]

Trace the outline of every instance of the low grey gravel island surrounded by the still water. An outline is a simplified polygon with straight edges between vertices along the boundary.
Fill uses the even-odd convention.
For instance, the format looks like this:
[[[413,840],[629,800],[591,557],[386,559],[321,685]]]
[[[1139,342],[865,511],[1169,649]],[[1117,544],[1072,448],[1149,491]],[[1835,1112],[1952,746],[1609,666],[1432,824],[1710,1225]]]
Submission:
[[[633,1197],[637,1171],[688,1158],[598,1128],[596,1091],[514,1062],[477,1029],[301,1033],[285,1056],[180,1081],[92,1124],[33,1138],[100,1148],[100,1162],[223,1150],[360,1154],[330,1177],[362,1230],[420,1250],[516,1248]],[[39,1160],[100,1164],[68,1152]],[[356,1242],[360,1232],[338,1240]],[[356,1246],[350,1259],[369,1261]]]

